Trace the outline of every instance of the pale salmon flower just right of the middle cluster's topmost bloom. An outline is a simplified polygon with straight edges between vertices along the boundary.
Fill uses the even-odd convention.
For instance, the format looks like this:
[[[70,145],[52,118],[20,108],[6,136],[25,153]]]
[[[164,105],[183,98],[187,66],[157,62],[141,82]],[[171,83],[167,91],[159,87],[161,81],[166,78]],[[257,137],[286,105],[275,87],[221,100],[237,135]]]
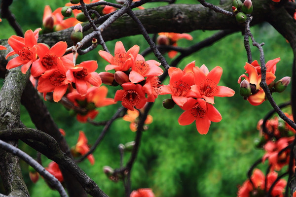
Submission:
[[[129,73],[129,80],[132,83],[139,83],[145,79],[144,77],[159,76],[163,73],[159,66],[159,62],[155,60],[145,61],[144,57],[138,54]]]

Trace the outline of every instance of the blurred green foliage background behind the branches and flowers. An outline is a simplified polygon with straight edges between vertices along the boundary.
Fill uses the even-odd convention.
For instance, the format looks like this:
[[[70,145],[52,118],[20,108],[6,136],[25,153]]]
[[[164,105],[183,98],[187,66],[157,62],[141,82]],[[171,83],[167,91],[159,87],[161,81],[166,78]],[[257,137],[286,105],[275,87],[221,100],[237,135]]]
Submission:
[[[10,6],[16,20],[23,28],[28,29],[41,27],[43,8],[50,5],[52,10],[62,7],[68,0],[14,0]],[[110,2],[115,2],[110,0]],[[196,3],[196,0],[177,0],[177,3]],[[217,3],[217,0],[209,2]],[[167,3],[147,3],[144,7],[155,7]],[[9,27],[5,19],[0,23],[0,39],[7,39],[14,31]],[[286,42],[269,24],[260,24],[251,28],[255,39],[264,42],[265,61],[280,57],[277,64],[276,76],[281,79],[284,76],[291,76],[293,53],[290,44]],[[194,31],[193,42],[203,40],[215,32]],[[152,36],[152,35],[151,35]],[[125,37],[120,39],[125,48],[133,45],[140,46],[140,52],[144,51],[148,44],[142,35]],[[118,40],[109,41],[107,46],[113,54],[114,44]],[[190,46],[193,43],[188,40],[179,40],[181,47]],[[77,62],[85,60],[97,60],[99,69],[104,71],[108,64],[98,55],[98,47],[93,52],[78,57]],[[259,51],[252,47],[253,59],[259,60]],[[170,60],[165,55],[167,61]],[[155,59],[148,55],[146,60]],[[149,125],[148,131],[143,134],[139,156],[132,169],[132,189],[152,188],[156,197],[234,197],[237,187],[247,178],[246,173],[249,167],[257,161],[263,151],[254,147],[254,139],[259,136],[256,130],[257,122],[271,110],[268,102],[259,106],[252,106],[248,101],[239,95],[238,77],[245,72],[243,66],[247,56],[243,44],[242,33],[233,33],[213,46],[205,48],[198,53],[186,57],[179,67],[184,68],[186,64],[196,61],[196,66],[205,64],[211,70],[215,66],[223,68],[222,79],[219,85],[233,89],[236,94],[231,98],[215,98],[215,107],[222,114],[220,123],[212,123],[207,135],[200,135],[195,124],[180,126],[178,117],[183,112],[175,107],[171,110],[162,107],[162,100],[169,98],[167,95],[159,96],[156,99],[151,115],[153,123]],[[1,81],[2,83],[2,81]],[[168,80],[164,82],[167,84]],[[114,87],[109,88],[109,97],[113,97]],[[281,94],[274,94],[277,103],[290,99],[290,87]],[[67,135],[69,146],[74,146],[78,131],[82,130],[88,137],[89,144],[93,144],[99,136],[103,127],[95,127],[91,124],[81,124],[75,117],[69,115],[61,104],[45,102],[51,115],[60,128],[63,128]],[[96,121],[108,120],[121,106],[116,105],[100,108]],[[286,109],[287,112],[290,109]],[[33,123],[24,107],[21,107],[21,120],[30,128]],[[79,166],[98,184],[98,186],[110,197],[123,197],[124,188],[121,182],[114,183],[103,173],[103,166],[110,165],[113,168],[119,167],[118,144],[134,140],[135,133],[130,131],[129,122],[118,119],[111,126],[110,131],[103,142],[94,152],[95,164],[91,166],[87,160]],[[26,150],[32,157],[36,157],[36,151],[26,144],[21,143],[20,148]],[[130,154],[125,154],[125,161],[128,161]],[[42,157],[44,166],[50,162]],[[22,163],[24,177],[30,194],[34,197],[58,197],[56,191],[50,190],[42,178],[33,184],[28,176],[28,165]],[[266,169],[266,164],[260,164],[259,168]]]

